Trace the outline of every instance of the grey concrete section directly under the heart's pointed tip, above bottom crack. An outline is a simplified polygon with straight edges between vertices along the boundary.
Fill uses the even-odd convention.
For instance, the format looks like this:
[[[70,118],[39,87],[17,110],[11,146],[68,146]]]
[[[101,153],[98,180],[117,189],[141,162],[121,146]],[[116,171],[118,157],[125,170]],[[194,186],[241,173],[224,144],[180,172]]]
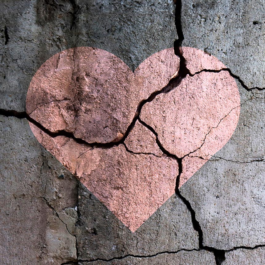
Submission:
[[[175,195],[134,233],[82,184],[78,210],[76,237],[81,260],[198,248],[190,213]]]

